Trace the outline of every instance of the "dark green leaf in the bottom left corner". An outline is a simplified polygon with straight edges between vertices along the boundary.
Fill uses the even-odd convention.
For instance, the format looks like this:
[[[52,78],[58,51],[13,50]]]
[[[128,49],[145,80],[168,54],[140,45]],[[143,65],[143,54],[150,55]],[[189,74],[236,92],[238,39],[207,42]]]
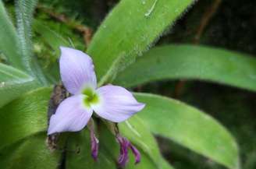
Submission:
[[[60,153],[51,152],[45,144],[46,133],[39,133],[0,151],[0,167],[5,169],[55,169]]]

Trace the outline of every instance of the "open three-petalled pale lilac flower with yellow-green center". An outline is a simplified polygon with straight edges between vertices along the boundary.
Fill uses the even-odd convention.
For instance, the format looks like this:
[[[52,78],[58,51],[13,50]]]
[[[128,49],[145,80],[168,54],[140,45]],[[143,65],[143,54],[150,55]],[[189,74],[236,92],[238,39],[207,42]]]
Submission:
[[[93,111],[108,121],[121,122],[144,108],[144,104],[138,103],[133,94],[121,86],[97,88],[90,56],[73,48],[60,49],[62,83],[72,96],[63,100],[52,115],[48,135],[80,131],[87,125]],[[95,146],[95,152],[96,149]]]

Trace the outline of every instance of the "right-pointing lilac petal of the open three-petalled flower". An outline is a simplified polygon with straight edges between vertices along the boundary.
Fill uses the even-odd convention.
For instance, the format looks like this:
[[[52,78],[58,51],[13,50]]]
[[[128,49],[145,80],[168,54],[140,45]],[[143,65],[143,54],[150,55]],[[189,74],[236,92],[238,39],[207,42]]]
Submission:
[[[109,121],[125,121],[145,106],[138,103],[133,94],[121,86],[101,86],[96,92],[100,103],[92,104],[91,107],[101,118]]]

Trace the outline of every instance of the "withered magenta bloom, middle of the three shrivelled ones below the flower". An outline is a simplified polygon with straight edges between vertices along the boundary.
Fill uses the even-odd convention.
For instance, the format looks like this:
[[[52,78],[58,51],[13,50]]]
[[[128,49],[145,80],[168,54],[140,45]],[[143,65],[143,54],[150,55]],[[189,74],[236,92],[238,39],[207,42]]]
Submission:
[[[120,144],[120,154],[119,154],[118,164],[121,167],[125,167],[126,163],[129,160],[128,149],[129,149],[129,146],[130,146],[130,142],[126,138],[121,137],[121,136],[117,136],[117,140]]]

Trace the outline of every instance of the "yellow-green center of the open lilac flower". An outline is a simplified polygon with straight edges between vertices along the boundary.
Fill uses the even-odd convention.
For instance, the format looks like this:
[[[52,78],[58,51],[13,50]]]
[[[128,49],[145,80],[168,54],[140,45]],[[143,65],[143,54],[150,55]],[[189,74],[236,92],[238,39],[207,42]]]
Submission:
[[[84,97],[84,104],[87,107],[90,107],[91,104],[98,104],[98,102],[99,102],[98,94],[95,93],[93,89],[86,88],[83,91],[83,94],[86,96],[86,97]]]

